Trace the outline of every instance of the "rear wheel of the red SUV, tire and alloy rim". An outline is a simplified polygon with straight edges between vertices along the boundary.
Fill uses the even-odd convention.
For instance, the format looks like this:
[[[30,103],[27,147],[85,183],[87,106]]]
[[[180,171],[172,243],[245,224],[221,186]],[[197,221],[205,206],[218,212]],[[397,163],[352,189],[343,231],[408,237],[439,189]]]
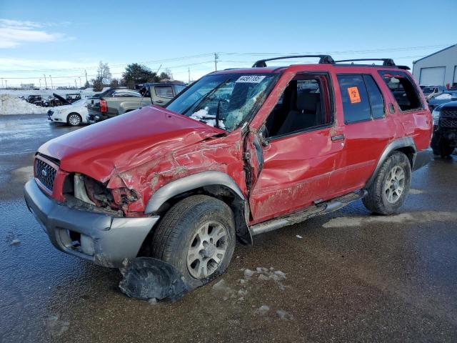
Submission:
[[[393,179],[396,181],[392,182]],[[362,202],[373,213],[394,214],[403,206],[410,186],[411,164],[405,154],[396,151],[384,161]]]

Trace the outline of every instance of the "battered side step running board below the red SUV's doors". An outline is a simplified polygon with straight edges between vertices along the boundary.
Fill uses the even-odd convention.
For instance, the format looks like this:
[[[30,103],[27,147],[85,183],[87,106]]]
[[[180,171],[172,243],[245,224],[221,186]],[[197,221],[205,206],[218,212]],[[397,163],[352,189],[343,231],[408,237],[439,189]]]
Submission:
[[[306,219],[311,217],[320,216],[322,214],[327,214],[330,212],[337,211],[341,207],[345,207],[351,202],[355,202],[358,199],[362,199],[366,195],[366,190],[361,190],[360,192],[351,192],[345,194],[341,197],[329,200],[328,202],[321,202],[320,204],[307,207],[306,209],[301,209],[292,214],[288,214],[283,217],[274,218],[268,220],[268,222],[262,222],[259,224],[252,225],[249,227],[252,236],[257,234],[263,234],[264,232],[273,231],[276,229],[281,229],[281,227],[287,227],[288,225],[293,225],[299,222],[303,222]]]

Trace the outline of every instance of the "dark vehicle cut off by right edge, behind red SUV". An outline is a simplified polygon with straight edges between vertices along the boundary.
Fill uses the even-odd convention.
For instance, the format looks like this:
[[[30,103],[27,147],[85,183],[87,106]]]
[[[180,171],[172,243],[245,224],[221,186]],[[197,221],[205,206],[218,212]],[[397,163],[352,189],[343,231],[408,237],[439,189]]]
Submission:
[[[457,146],[457,99],[436,107],[433,116],[433,153],[443,158],[450,156]]]

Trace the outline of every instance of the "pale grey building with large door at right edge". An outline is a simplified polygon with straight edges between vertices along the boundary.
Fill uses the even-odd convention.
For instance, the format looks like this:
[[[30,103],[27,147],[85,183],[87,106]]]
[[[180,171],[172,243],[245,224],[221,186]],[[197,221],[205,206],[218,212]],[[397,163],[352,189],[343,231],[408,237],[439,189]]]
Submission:
[[[457,44],[413,61],[413,75],[423,86],[457,85]]]

